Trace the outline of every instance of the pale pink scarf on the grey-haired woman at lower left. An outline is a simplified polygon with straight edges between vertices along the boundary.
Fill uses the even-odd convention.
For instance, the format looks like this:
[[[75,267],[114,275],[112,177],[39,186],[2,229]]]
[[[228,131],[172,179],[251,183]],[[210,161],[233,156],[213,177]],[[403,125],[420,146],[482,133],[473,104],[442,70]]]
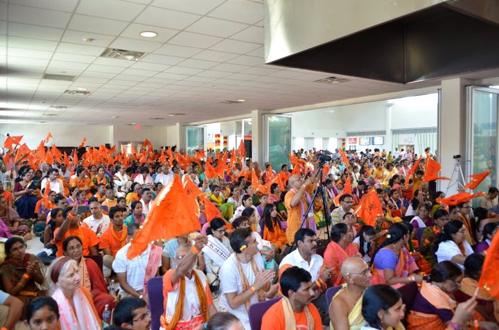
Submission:
[[[62,330],[100,330],[100,319],[97,311],[83,290],[87,289],[80,287],[73,295],[74,311],[60,288],[57,288],[53,293],[52,297],[59,306]]]

